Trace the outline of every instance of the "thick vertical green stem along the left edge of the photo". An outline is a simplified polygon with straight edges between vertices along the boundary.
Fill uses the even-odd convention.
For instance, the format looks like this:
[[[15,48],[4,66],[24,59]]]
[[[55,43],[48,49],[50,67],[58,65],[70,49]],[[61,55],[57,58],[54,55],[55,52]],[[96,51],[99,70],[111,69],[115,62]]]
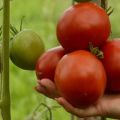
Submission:
[[[9,91],[9,24],[10,24],[10,0],[3,1],[3,71],[2,71],[2,117],[3,120],[11,120],[10,91]]]

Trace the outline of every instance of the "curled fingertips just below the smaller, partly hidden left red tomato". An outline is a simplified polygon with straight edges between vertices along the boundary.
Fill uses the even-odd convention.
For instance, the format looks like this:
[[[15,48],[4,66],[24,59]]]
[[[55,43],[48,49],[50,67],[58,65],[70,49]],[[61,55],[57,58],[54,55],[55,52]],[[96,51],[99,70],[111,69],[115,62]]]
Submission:
[[[45,96],[52,99],[60,97],[54,82],[52,82],[51,80],[45,78],[42,80],[38,80],[37,82],[38,85],[35,87],[35,89],[39,93],[44,94]]]

